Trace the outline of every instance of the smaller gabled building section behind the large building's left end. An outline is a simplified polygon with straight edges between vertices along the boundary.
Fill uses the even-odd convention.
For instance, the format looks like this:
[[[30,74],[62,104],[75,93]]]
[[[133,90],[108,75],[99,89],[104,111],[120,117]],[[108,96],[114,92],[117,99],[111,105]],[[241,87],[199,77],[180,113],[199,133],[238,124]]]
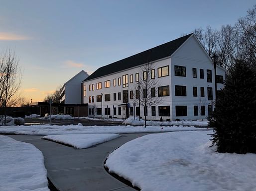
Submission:
[[[83,99],[83,80],[89,75],[86,71],[82,70],[70,80],[68,80],[61,89],[60,102],[63,104],[82,104]]]

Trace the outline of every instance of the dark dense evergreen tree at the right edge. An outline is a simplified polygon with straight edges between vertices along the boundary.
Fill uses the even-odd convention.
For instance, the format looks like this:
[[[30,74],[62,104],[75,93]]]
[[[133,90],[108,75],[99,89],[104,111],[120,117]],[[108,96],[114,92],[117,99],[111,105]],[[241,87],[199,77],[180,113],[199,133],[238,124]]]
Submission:
[[[256,72],[236,61],[209,119],[218,152],[256,153]]]

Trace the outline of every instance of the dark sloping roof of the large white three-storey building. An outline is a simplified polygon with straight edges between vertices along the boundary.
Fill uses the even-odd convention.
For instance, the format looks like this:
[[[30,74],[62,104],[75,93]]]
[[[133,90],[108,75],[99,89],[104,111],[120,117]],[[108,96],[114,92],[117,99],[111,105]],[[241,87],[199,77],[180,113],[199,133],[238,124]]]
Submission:
[[[98,68],[84,81],[171,56],[193,33]]]

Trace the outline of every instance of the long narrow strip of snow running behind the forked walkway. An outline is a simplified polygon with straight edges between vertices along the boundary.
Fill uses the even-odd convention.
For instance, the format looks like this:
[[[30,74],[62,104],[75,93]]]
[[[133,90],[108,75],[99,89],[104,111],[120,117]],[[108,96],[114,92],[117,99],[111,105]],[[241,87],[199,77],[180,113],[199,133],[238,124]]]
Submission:
[[[139,133],[139,132],[169,132],[184,130],[208,130],[196,127],[160,127],[160,126],[83,126],[78,125],[31,125],[31,126],[0,126],[0,133],[27,134],[27,135],[56,135],[56,134],[88,134],[88,133]]]

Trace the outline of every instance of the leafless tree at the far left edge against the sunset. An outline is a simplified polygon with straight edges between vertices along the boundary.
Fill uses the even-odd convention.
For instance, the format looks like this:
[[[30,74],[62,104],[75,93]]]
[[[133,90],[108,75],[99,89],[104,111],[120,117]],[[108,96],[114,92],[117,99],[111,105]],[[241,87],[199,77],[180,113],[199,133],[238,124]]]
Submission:
[[[4,125],[6,125],[6,107],[12,105],[13,97],[20,88],[21,70],[15,52],[3,51],[0,54],[0,107],[4,108]]]

